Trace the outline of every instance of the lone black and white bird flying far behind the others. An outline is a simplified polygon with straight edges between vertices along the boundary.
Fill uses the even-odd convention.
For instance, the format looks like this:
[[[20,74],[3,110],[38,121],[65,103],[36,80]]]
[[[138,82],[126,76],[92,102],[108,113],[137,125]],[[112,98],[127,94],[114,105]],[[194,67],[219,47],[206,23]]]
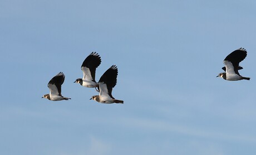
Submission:
[[[216,77],[221,77],[229,81],[237,80],[250,80],[250,77],[243,77],[238,73],[238,70],[243,69],[239,63],[245,59],[247,51],[244,48],[239,48],[230,53],[223,61],[224,67],[222,68],[225,73],[220,73]]]

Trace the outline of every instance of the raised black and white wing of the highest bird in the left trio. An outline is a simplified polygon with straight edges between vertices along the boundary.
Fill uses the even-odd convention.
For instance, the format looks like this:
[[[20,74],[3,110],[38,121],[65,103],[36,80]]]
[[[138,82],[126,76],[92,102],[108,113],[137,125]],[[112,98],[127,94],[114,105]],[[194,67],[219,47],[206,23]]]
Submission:
[[[101,64],[100,55],[92,52],[82,63],[81,70],[83,71],[83,80],[95,81],[96,68]]]

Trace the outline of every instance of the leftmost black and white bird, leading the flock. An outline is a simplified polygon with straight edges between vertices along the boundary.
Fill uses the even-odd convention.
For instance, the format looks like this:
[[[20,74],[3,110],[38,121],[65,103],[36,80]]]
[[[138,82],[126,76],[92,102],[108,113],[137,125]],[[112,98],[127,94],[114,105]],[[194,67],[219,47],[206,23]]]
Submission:
[[[69,100],[68,97],[63,97],[61,95],[61,85],[65,80],[65,75],[60,72],[55,75],[49,82],[48,88],[50,89],[50,94],[43,95],[42,98],[46,98],[51,101],[61,101],[61,100]]]

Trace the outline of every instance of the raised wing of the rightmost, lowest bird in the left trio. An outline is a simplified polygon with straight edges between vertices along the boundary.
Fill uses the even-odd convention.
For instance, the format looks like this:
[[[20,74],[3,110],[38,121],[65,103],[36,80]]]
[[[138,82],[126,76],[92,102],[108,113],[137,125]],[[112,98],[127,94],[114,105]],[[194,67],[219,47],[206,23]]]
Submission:
[[[112,88],[115,87],[117,81],[118,70],[116,65],[112,65],[105,73],[100,77],[99,87],[100,95],[108,94],[111,98]]]

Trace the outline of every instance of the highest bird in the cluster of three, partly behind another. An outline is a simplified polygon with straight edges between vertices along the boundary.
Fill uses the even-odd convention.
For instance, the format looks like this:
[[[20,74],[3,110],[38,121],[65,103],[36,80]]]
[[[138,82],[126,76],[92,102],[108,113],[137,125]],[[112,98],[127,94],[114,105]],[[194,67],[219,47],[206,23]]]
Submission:
[[[100,55],[96,52],[92,52],[85,58],[82,63],[81,70],[83,71],[83,78],[76,79],[76,83],[85,87],[97,87],[98,84],[95,81],[96,68],[101,64]],[[75,83],[74,82],[74,83]]]

